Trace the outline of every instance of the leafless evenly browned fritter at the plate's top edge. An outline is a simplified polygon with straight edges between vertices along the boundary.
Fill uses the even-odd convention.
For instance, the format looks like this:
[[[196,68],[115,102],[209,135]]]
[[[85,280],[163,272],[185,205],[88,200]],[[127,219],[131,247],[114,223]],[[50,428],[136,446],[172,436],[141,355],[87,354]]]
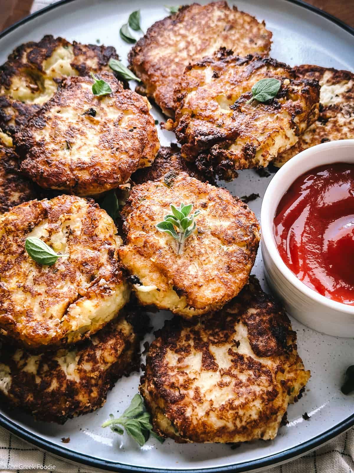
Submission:
[[[174,115],[173,90],[185,66],[210,56],[220,46],[241,56],[268,54],[272,34],[264,21],[228,7],[226,1],[185,5],[154,23],[132,48],[131,69],[142,79],[141,93],[153,98],[162,111]]]

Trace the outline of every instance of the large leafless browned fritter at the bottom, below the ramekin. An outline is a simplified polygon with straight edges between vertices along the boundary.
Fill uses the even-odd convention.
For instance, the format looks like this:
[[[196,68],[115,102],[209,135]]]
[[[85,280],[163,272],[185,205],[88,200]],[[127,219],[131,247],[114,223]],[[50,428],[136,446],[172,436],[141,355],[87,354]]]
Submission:
[[[140,391],[161,436],[244,442],[275,438],[309,377],[284,309],[251,276],[221,312],[165,322]]]

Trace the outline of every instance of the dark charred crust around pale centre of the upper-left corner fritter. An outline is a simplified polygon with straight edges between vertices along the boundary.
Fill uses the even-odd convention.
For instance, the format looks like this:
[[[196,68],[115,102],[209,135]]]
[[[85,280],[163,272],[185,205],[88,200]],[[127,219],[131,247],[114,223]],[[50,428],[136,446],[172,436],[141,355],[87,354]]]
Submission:
[[[22,76],[35,96],[38,90],[44,87],[44,79],[48,77],[46,71],[43,70],[43,63],[59,46],[73,48],[70,66],[79,76],[87,76],[90,71],[110,70],[108,66],[110,58],[119,59],[112,46],[81,44],[76,41],[71,44],[64,38],[54,38],[52,35],[43,36],[38,43],[30,41],[21,44],[0,66],[0,127],[7,133],[14,134],[19,131],[28,119],[41,108],[40,105],[30,102],[22,103],[21,100],[11,97],[9,90],[12,79]],[[61,79],[66,75],[64,72],[62,77],[55,77],[53,81],[59,85]]]

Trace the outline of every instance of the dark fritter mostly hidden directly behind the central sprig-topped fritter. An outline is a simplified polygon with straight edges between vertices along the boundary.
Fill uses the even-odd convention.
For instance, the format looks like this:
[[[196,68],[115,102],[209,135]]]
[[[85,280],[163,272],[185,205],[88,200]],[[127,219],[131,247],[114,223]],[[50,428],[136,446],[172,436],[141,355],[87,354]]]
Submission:
[[[194,163],[189,163],[182,158],[181,149],[174,143],[171,143],[171,146],[162,146],[152,165],[136,171],[132,175],[131,181],[133,184],[156,181],[171,171],[177,174],[184,172],[191,177],[195,177],[195,179],[199,179],[203,182],[206,181],[206,176],[198,171]]]

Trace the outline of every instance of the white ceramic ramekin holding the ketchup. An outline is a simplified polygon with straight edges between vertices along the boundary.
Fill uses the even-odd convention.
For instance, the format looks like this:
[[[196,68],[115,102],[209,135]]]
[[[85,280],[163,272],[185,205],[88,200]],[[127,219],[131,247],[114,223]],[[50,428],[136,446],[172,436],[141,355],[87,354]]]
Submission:
[[[354,337],[354,306],[326,298],[298,280],[281,259],[273,233],[278,203],[294,180],[314,167],[336,162],[354,164],[354,140],[329,141],[305,149],[279,169],[262,202],[261,251],[270,287],[290,315],[319,332]]]

